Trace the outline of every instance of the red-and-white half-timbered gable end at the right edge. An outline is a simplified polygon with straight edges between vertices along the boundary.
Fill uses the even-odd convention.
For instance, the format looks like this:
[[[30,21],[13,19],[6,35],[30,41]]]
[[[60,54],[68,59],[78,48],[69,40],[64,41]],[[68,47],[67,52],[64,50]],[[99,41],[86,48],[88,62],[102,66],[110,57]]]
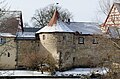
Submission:
[[[114,12],[114,8],[115,12]],[[120,14],[120,3],[114,3],[110,9],[110,12],[103,24],[103,31],[107,34],[109,34],[112,38],[119,38],[119,33],[120,33],[120,23],[118,22],[113,22],[111,20],[112,15],[116,16]],[[118,21],[119,16],[113,17],[114,21]]]

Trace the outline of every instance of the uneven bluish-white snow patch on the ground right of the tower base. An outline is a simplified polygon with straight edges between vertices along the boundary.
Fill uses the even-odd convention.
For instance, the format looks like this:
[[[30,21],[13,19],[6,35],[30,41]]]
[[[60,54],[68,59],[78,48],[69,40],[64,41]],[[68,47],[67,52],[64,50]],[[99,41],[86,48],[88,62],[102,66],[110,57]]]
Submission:
[[[108,72],[107,68],[75,68],[69,71],[59,72],[57,71],[55,76],[80,76],[80,75],[91,75],[92,72],[96,74],[106,74]]]

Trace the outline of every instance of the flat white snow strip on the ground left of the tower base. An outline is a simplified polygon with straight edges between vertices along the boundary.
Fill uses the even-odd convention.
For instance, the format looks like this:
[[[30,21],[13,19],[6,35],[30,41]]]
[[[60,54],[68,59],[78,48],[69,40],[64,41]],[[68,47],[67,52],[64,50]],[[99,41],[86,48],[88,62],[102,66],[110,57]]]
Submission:
[[[25,71],[25,70],[1,70],[0,76],[50,76],[48,72]]]

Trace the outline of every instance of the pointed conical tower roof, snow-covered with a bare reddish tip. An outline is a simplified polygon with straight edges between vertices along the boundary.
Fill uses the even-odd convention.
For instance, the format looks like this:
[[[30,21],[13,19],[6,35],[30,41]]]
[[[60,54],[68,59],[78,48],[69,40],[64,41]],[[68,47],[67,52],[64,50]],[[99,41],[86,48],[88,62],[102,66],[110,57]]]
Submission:
[[[43,27],[36,33],[42,33],[42,32],[74,32],[74,31],[72,31],[70,28],[68,28],[66,23],[62,22],[59,19],[59,12],[57,10],[55,10],[48,25]]]

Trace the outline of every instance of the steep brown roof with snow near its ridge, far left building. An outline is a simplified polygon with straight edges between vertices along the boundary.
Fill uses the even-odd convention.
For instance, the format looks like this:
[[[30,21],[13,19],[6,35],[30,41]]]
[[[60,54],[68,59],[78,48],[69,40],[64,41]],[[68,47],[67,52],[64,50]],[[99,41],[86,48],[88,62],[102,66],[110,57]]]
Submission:
[[[0,17],[0,33],[16,35],[18,31],[23,31],[22,12],[5,12],[5,14]]]

